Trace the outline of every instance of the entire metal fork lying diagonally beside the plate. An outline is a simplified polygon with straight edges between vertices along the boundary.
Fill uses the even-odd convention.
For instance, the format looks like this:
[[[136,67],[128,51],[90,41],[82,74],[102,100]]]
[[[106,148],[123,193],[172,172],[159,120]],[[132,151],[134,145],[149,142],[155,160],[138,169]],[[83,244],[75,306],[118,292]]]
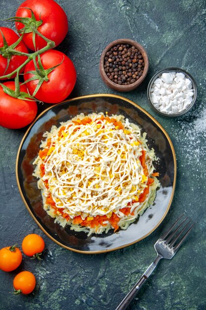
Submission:
[[[116,310],[125,310],[131,301],[135,298],[141,286],[146,282],[149,278],[150,274],[153,272],[161,258],[171,259],[195,225],[189,220],[188,217],[183,219],[181,222],[184,213],[176,220],[174,224],[169,227],[169,229],[165,232],[163,236],[155,244],[155,250],[157,252],[157,258],[151,263],[151,265],[147,268],[145,273],[141,276],[141,278],[137,281],[137,283],[133,286],[130,292],[126,295],[121,304],[117,307]],[[189,221],[188,221],[189,220]],[[175,227],[178,224],[177,227]],[[181,228],[181,229],[180,229]]]

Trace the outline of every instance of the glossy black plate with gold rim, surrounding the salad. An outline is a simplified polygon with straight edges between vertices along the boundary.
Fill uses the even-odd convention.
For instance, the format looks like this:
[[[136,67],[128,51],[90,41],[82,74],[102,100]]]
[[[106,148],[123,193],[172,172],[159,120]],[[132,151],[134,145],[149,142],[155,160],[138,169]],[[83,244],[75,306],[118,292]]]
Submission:
[[[70,230],[69,226],[61,227],[54,223],[42,207],[41,191],[37,179],[33,177],[34,158],[38,155],[42,135],[50,131],[52,125],[83,112],[106,112],[122,114],[130,122],[138,124],[147,133],[150,148],[154,148],[158,161],[155,163],[160,172],[161,187],[152,207],[149,207],[139,219],[127,230],[89,237],[84,232]],[[16,160],[16,177],[21,197],[32,217],[41,229],[60,246],[81,253],[101,253],[124,248],[152,233],[165,218],[173,198],[176,181],[176,157],[172,143],[163,127],[136,103],[115,95],[88,95],[64,103],[51,105],[43,111],[25,133],[19,147]]]

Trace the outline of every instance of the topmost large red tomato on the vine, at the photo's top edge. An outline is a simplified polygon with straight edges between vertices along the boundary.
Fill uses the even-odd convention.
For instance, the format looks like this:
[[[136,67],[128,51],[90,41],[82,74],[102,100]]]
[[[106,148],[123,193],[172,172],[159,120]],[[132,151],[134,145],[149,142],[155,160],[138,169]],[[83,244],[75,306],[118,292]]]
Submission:
[[[31,17],[31,10],[28,7],[34,12],[37,21],[42,20],[38,31],[47,39],[54,41],[56,46],[59,45],[68,32],[67,15],[61,6],[53,0],[26,0],[18,7],[16,16]],[[20,22],[16,22],[15,25],[18,31],[24,27]],[[23,40],[29,49],[35,51],[32,38],[32,32],[25,33]],[[36,50],[46,46],[46,41],[38,35],[35,42]]]

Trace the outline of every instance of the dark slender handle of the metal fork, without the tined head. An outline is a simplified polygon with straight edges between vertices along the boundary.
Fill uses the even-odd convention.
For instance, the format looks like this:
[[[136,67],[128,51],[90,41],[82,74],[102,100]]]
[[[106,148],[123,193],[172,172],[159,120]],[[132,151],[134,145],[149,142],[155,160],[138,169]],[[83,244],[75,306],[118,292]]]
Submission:
[[[116,308],[116,310],[125,310],[129,306],[129,304],[135,298],[136,294],[138,293],[138,291],[142,287],[142,285],[149,278],[150,274],[153,272],[153,270],[155,269],[155,267],[157,266],[157,264],[161,258],[162,258],[162,256],[159,256],[159,255],[157,256],[157,258],[155,258],[155,260],[147,268],[145,273],[141,276],[141,278],[137,281],[137,283],[132,287],[132,289],[129,291],[129,293],[124,297],[123,301]]]

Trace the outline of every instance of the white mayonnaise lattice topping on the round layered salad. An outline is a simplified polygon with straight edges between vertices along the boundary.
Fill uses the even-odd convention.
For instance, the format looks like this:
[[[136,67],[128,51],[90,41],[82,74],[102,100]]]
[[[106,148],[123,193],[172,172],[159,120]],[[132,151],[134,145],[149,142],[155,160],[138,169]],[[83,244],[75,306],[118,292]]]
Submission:
[[[115,126],[103,113],[88,115],[91,122],[82,124],[81,118],[53,126],[46,132],[50,147],[45,158],[38,156],[36,176],[43,196],[50,193],[58,209],[73,219],[77,215],[94,217],[115,212],[120,218],[121,209],[137,207],[139,195],[147,187],[148,177],[139,160],[144,149],[140,128],[130,124],[124,116],[113,116],[123,121],[124,127]],[[100,118],[101,117],[101,118]],[[78,123],[79,122],[79,123]],[[40,177],[43,162],[44,175]],[[150,174],[154,170],[152,157],[147,153],[146,163]],[[45,182],[47,187],[45,187]],[[131,202],[135,201],[131,205]]]

